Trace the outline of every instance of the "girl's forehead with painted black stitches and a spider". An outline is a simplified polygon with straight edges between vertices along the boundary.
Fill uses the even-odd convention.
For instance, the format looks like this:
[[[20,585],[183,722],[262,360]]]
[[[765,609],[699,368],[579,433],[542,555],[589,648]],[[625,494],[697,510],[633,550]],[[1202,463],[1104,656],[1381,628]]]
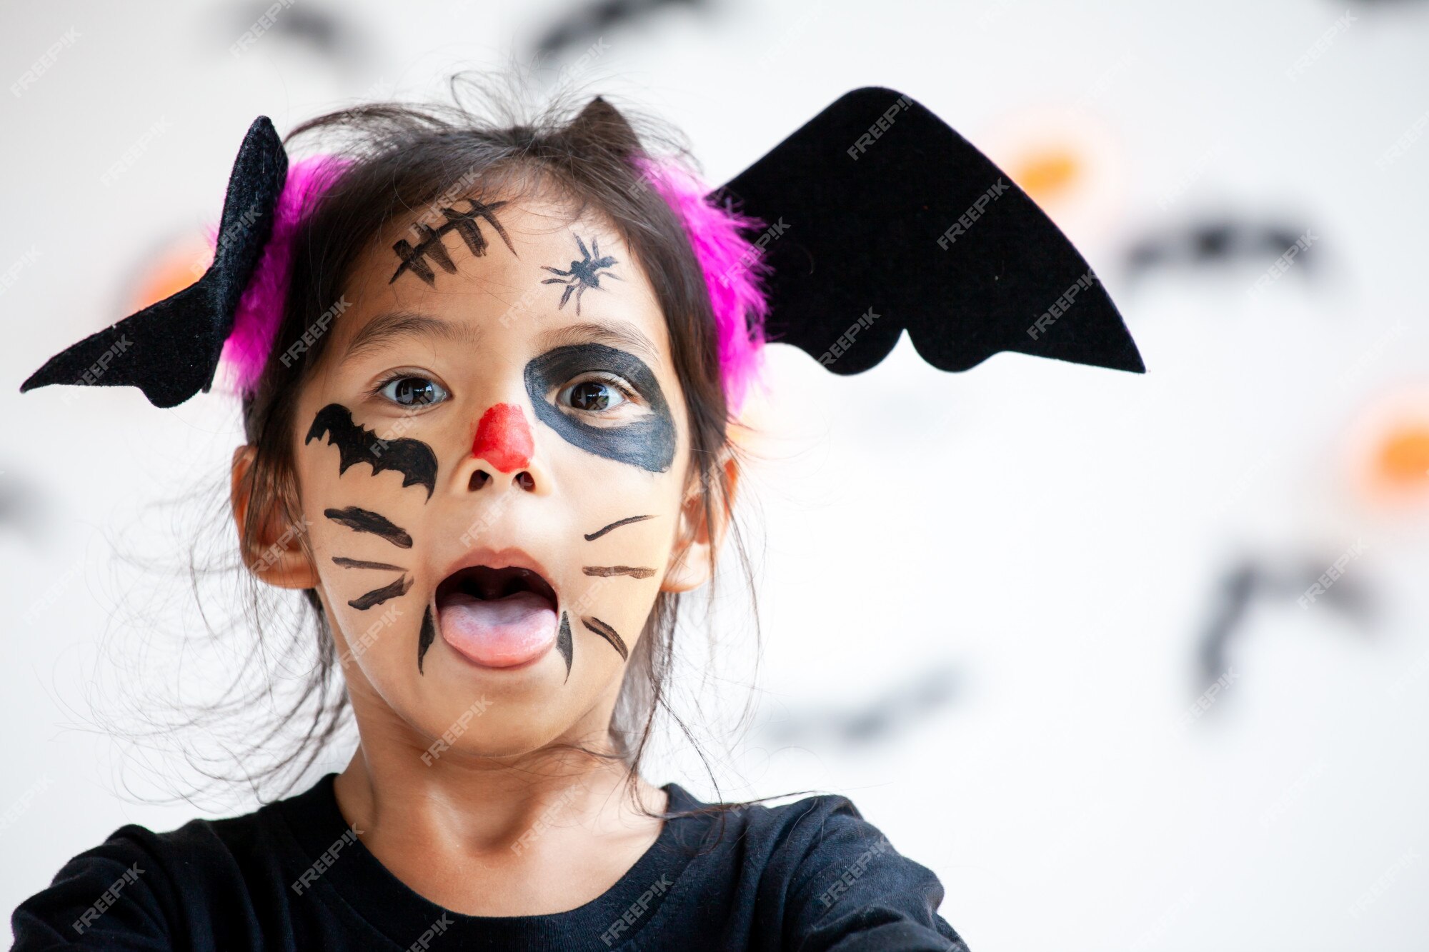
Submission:
[[[356,262],[346,299],[339,350],[393,314],[426,314],[463,324],[469,339],[624,324],[659,363],[669,352],[654,290],[619,230],[539,194],[440,199],[394,222]]]

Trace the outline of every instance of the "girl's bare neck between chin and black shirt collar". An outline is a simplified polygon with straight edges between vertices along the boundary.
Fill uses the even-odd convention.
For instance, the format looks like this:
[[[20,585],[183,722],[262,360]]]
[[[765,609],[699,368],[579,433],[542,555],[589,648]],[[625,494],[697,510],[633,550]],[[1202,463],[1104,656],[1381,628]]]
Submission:
[[[610,889],[654,843],[660,788],[570,750],[500,763],[359,746],[334,782],[343,818],[394,876],[466,915],[546,915]]]

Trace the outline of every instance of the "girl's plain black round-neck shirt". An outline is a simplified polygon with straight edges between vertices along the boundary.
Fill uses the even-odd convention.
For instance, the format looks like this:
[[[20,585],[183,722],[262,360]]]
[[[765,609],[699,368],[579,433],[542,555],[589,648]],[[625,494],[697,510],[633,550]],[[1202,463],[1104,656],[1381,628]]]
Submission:
[[[393,876],[329,773],[306,793],[154,833],[127,825],[14,911],[19,952],[94,949],[942,949],[943,886],[843,796],[667,819],[604,895],[467,916]],[[670,812],[707,808],[674,783]]]

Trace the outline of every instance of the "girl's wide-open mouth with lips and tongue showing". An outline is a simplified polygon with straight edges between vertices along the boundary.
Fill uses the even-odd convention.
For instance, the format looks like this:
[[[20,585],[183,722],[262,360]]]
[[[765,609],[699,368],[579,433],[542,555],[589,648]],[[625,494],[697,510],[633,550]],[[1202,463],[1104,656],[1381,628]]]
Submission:
[[[470,566],[436,592],[442,639],[483,668],[516,668],[556,642],[556,590],[539,572]]]

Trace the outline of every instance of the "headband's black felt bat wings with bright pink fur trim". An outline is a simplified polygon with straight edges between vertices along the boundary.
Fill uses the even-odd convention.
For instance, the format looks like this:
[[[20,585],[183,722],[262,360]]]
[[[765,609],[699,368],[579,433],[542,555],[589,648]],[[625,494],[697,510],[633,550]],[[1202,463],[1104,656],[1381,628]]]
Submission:
[[[259,117],[203,277],[56,354],[20,389],[136,386],[169,407],[209,390],[220,360],[240,389],[252,386],[282,314],[292,232],[342,167],[320,156],[289,170]],[[845,94],[710,193],[673,163],[642,160],[640,170],[704,270],[736,407],[766,342],[852,375],[880,363],[905,329],[942,370],[999,350],[1145,370],[1066,236],[966,139],[895,90]]]

